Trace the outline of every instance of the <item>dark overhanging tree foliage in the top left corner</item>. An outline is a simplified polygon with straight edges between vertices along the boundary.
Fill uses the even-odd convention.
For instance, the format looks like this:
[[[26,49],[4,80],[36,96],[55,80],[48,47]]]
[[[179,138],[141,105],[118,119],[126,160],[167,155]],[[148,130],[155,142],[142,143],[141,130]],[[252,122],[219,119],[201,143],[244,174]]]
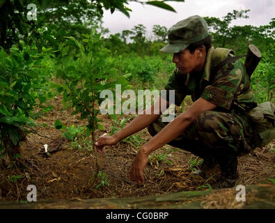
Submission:
[[[34,38],[40,39],[39,28],[55,24],[63,27],[62,30],[71,31],[78,26],[72,27],[71,24],[90,24],[94,25],[100,21],[103,15],[102,8],[120,10],[129,17],[130,9],[125,5],[131,0],[1,0],[0,1],[0,46],[9,49],[13,44],[19,43],[24,39],[25,42]],[[175,11],[164,1],[138,1],[142,4],[150,4],[166,10]],[[184,0],[180,0],[184,1]],[[27,6],[34,3],[37,8],[37,20],[29,20],[29,10]],[[34,9],[33,9],[34,10]],[[88,28],[91,28],[88,27]],[[69,29],[69,30],[68,30]],[[82,26],[81,29],[84,29]],[[83,32],[79,32],[83,33]],[[59,32],[59,34],[61,34]],[[54,42],[54,38],[47,39]],[[65,36],[65,35],[63,35]],[[72,35],[70,35],[72,36]],[[28,38],[30,37],[30,38]]]

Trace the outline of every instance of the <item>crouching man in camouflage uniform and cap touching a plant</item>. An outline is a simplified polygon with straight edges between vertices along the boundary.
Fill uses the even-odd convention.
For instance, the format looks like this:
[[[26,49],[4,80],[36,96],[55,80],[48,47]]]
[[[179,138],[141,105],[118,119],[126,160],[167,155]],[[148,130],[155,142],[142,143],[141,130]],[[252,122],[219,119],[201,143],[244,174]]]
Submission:
[[[173,54],[176,69],[165,89],[175,90],[175,105],[180,106],[186,95],[191,95],[194,103],[173,121],[164,123],[159,105],[168,106],[169,102],[168,98],[159,98],[147,108],[150,114],[145,110],[120,132],[100,137],[95,143],[97,151],[102,153],[104,146],[148,128],[152,139],[141,146],[129,172],[136,183],[144,183],[143,169],[149,154],[169,144],[203,158],[201,170],[194,174],[205,177],[219,164],[221,177],[214,188],[233,187],[239,178],[237,157],[262,144],[249,116],[257,107],[250,77],[239,59],[230,60],[232,50],[212,47],[207,24],[198,15],[173,25],[168,40],[161,51]],[[274,119],[269,128],[274,131]],[[271,138],[269,135],[269,141]]]

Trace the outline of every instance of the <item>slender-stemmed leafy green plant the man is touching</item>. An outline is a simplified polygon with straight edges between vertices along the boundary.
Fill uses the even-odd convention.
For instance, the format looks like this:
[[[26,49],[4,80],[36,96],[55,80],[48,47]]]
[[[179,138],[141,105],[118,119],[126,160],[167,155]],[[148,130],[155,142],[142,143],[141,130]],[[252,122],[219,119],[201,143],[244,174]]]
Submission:
[[[86,135],[91,134],[95,155],[95,130],[103,130],[98,114],[100,113],[100,92],[114,90],[116,84],[123,89],[128,86],[127,79],[118,74],[118,61],[109,49],[104,47],[100,33],[93,29],[90,35],[82,34],[81,41],[73,37],[65,37],[60,44],[60,63],[56,70],[56,78],[61,84],[54,84],[59,93],[63,93],[63,103],[74,109],[73,114],[80,114],[86,119]],[[97,157],[97,156],[96,156]],[[97,176],[99,167],[97,164]]]

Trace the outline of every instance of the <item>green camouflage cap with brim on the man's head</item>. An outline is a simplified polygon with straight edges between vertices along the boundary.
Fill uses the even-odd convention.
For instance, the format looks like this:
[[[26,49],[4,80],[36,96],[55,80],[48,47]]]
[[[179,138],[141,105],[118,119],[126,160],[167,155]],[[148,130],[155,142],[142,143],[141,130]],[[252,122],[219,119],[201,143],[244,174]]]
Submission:
[[[174,24],[168,30],[169,44],[160,51],[166,53],[178,53],[187,48],[191,43],[196,43],[207,38],[207,23],[203,17],[193,15]]]

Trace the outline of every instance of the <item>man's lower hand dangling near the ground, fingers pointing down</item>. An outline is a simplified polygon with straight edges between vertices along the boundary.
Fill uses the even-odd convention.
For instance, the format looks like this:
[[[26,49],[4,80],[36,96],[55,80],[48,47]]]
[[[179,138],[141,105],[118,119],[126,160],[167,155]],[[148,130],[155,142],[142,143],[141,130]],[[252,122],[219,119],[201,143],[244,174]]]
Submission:
[[[130,178],[132,180],[135,180],[136,184],[139,184],[139,181],[141,183],[144,183],[143,170],[146,167],[148,160],[148,155],[143,151],[142,148],[140,148],[139,152],[136,154],[136,157],[134,158],[132,167],[129,172]]]

